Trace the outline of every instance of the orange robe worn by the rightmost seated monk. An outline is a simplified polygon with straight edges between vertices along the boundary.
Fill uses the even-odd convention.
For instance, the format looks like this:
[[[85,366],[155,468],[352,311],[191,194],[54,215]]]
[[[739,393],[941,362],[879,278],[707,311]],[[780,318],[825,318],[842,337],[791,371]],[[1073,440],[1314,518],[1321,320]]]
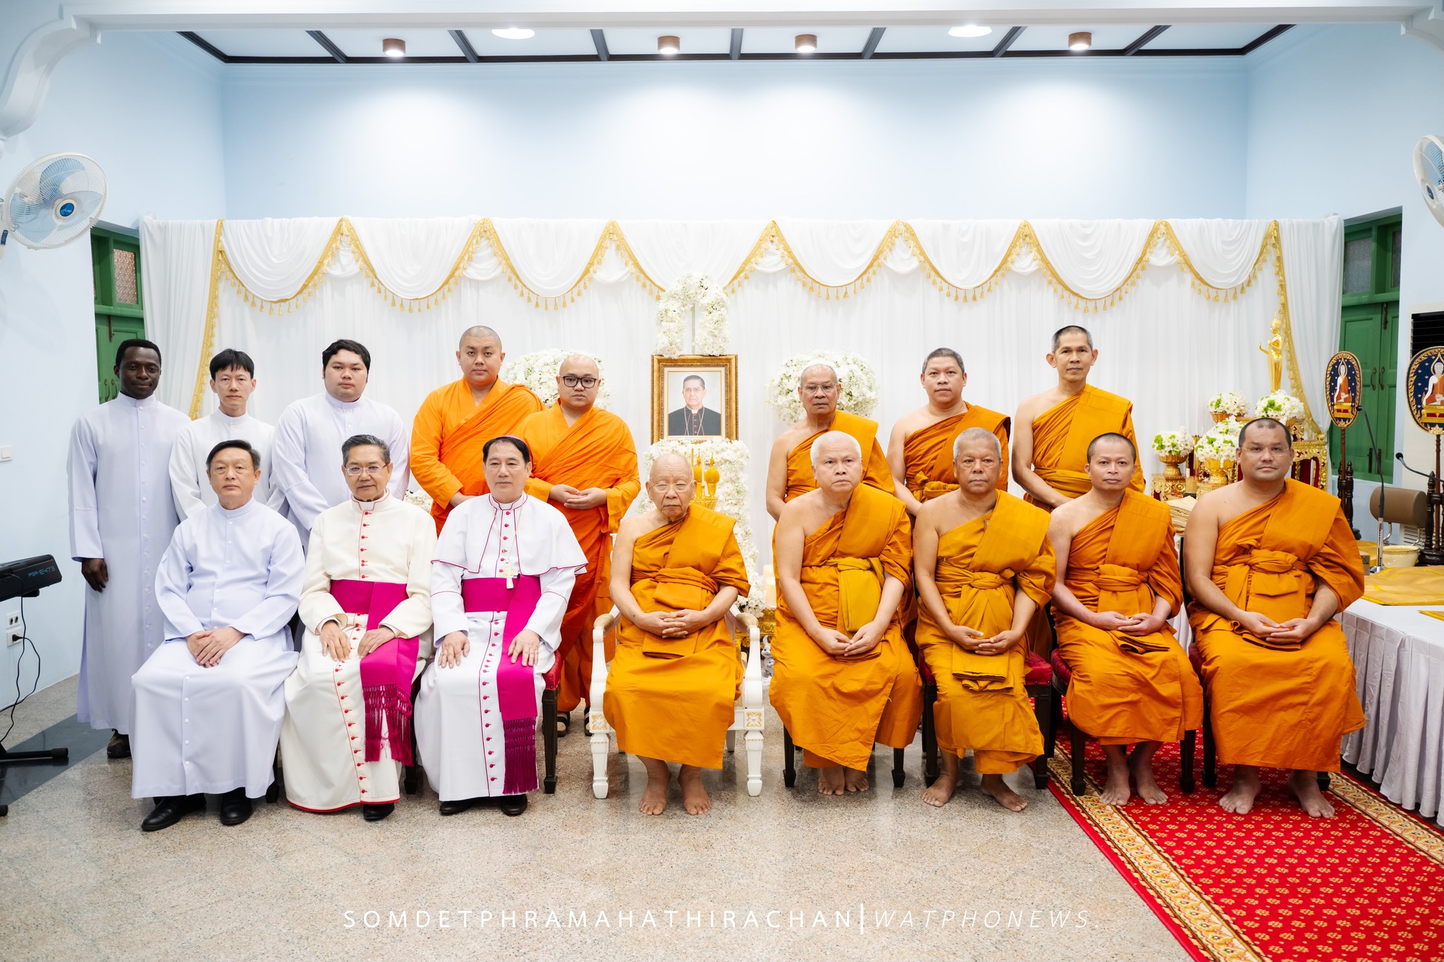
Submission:
[[[1245,612],[1281,625],[1307,617],[1318,581],[1339,597],[1339,610],[1363,593],[1363,565],[1337,498],[1287,480],[1278,498],[1219,529],[1213,583]],[[1365,724],[1339,620],[1302,645],[1268,645],[1197,601],[1188,620],[1219,762],[1337,772],[1340,740]]]

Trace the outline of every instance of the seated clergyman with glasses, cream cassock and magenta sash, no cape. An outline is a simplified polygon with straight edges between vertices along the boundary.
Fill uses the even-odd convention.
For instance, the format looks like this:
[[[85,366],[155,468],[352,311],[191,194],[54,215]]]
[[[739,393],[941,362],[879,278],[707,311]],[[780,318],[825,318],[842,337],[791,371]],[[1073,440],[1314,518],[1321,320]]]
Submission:
[[[378,822],[412,759],[412,682],[432,648],[432,516],[387,492],[391,451],[342,446],[351,498],[321,512],[306,551],[300,662],[286,679],[286,799],[308,812],[361,805]]]

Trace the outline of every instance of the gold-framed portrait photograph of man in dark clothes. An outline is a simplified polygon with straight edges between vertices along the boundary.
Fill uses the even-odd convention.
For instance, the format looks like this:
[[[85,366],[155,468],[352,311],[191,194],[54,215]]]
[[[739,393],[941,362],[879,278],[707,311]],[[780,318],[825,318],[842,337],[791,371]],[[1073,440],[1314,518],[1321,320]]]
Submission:
[[[651,440],[736,440],[736,355],[651,356]]]

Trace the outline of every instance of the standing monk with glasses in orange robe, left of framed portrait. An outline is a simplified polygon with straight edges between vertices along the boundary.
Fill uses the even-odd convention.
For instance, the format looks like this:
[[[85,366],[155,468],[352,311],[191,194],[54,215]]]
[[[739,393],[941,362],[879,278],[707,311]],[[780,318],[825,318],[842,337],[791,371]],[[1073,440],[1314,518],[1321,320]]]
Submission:
[[[611,535],[641,490],[631,430],[619,417],[596,407],[601,384],[595,361],[586,355],[567,358],[556,375],[556,404],[527,417],[517,428],[517,436],[531,447],[527,493],[550,500],[566,515],[586,555],[586,573],[576,575],[562,620],[559,712],[569,712],[591,697],[596,591],[608,580]],[[567,725],[570,718],[559,724]]]

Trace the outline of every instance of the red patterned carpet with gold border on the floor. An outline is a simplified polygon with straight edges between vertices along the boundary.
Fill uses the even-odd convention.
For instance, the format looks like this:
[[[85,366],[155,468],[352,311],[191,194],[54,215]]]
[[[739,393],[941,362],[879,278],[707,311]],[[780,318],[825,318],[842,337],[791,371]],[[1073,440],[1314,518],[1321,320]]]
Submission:
[[[1103,750],[1087,746],[1089,790],[1069,790],[1067,728],[1051,762],[1053,793],[1196,959],[1354,962],[1444,959],[1444,832],[1370,787],[1334,775],[1334,818],[1304,815],[1282,772],[1264,777],[1249,815],[1229,815],[1216,787],[1178,790],[1178,746],[1155,756],[1167,805],[1136,796],[1103,805]]]

